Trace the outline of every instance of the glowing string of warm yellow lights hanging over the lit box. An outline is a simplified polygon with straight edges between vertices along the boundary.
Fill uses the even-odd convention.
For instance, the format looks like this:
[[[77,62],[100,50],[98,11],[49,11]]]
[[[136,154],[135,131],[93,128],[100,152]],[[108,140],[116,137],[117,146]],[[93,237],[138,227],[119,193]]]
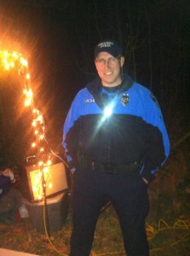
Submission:
[[[28,61],[16,51],[0,49],[0,67],[4,71],[15,69],[20,76],[21,85],[23,86],[23,94],[25,96],[25,106],[30,108],[32,112],[32,127],[34,131],[34,141],[32,148],[36,148],[37,159],[37,175],[36,185],[32,189],[38,191],[38,199],[41,200],[45,196],[46,182],[49,177],[48,168],[51,166],[52,154],[44,154],[44,145],[47,144],[44,136],[45,125],[43,114],[34,106],[31,74],[29,72]],[[49,187],[52,184],[48,184]]]

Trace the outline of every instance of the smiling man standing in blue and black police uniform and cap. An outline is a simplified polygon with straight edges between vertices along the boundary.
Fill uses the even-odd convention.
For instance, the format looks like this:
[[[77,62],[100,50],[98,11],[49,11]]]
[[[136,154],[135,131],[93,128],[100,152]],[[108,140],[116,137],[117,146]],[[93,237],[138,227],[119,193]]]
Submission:
[[[107,200],[127,255],[149,255],[147,183],[169,156],[170,141],[153,93],[123,75],[123,66],[117,42],[97,44],[99,76],[78,92],[66,117],[63,147],[74,180],[70,256],[89,256]]]

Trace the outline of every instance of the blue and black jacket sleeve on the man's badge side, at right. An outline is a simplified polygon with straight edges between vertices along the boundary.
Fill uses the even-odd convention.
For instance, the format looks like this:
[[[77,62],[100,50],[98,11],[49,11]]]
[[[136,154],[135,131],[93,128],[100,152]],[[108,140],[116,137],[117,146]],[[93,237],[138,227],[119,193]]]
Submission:
[[[166,130],[163,115],[153,93],[146,101],[146,122],[150,127],[147,131],[147,150],[141,177],[151,181],[158,169],[164,165],[170,154],[170,139]]]

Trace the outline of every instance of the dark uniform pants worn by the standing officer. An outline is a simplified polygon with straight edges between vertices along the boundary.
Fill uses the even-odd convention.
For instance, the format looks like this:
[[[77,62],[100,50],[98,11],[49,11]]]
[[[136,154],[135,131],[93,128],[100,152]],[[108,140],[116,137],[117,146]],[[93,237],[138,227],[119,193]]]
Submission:
[[[89,256],[95,224],[107,199],[118,215],[128,256],[148,256],[145,219],[147,185],[139,173],[108,174],[93,170],[74,173],[73,230],[70,256]]]

